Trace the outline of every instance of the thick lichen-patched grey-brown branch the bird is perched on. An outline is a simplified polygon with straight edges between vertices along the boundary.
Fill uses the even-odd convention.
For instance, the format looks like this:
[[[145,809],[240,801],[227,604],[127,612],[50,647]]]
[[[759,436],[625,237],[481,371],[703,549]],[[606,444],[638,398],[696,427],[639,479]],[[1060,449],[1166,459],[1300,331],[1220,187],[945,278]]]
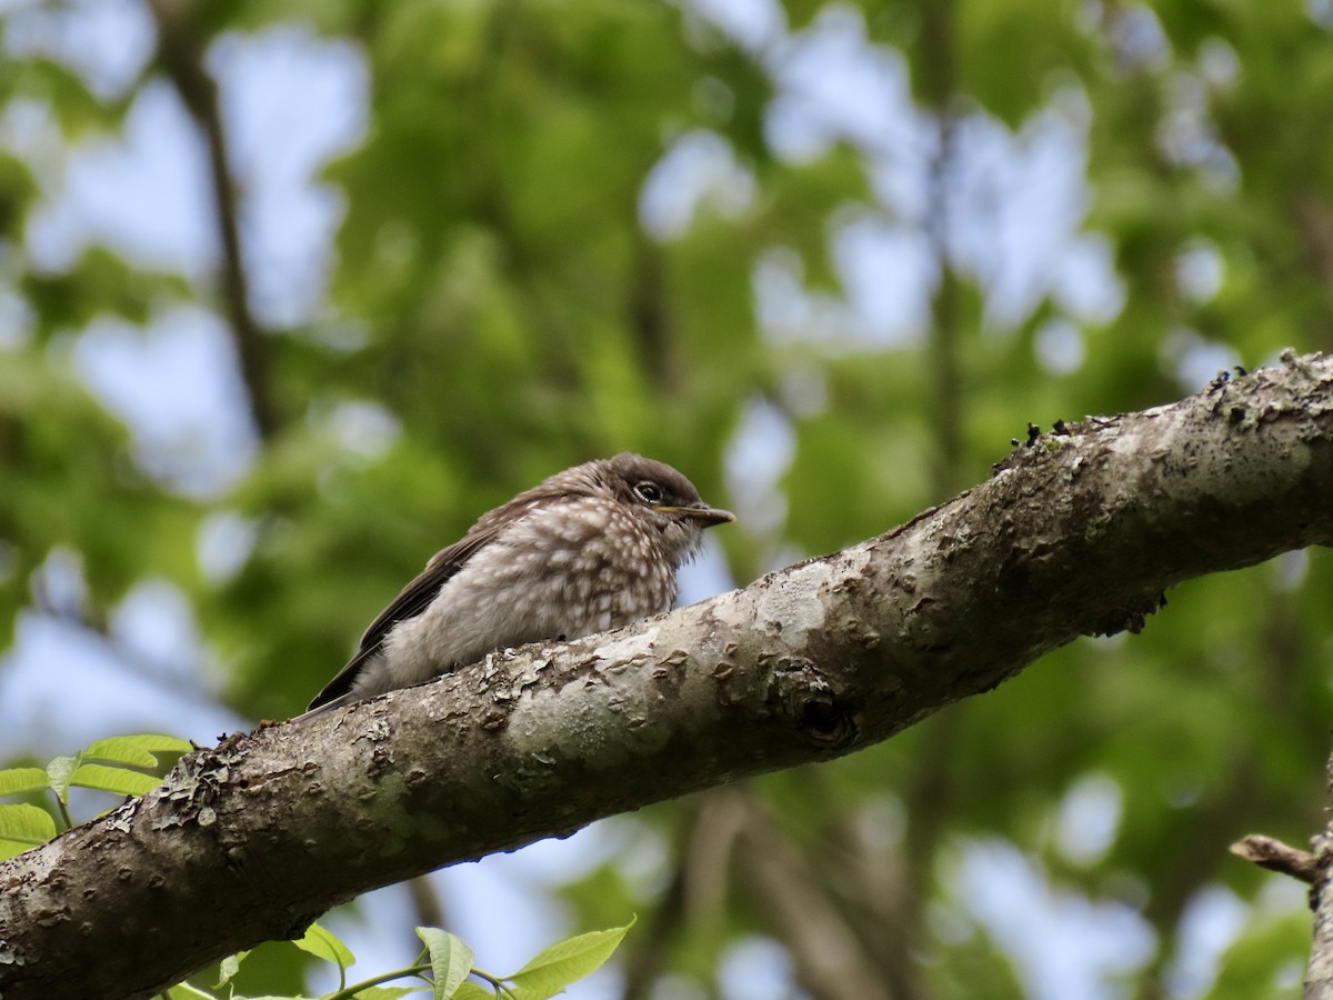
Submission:
[[[1333,359],[1064,429],[744,591],[188,755],[0,864],[0,995],[147,996],[376,885],[885,740],[1182,580],[1333,540]]]

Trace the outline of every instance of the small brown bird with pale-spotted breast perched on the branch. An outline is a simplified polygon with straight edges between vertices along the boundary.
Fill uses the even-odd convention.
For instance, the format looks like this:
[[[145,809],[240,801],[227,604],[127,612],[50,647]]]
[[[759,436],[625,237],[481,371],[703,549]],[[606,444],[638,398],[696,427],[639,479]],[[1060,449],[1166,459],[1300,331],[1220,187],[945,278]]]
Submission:
[[[665,463],[621,452],[557,472],[440,549],[365,629],[303,719],[496,649],[572,640],[670,611],[704,529],[736,520]]]

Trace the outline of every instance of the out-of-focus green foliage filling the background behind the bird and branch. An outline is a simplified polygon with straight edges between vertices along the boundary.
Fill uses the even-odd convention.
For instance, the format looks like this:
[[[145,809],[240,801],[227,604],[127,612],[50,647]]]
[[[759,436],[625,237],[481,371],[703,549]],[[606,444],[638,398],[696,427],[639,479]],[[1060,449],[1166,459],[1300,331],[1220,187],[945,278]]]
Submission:
[[[0,16],[15,49],[0,61],[5,115],[41,109],[67,149],[116,132],[161,80],[157,61],[107,96],[15,43],[37,7],[79,12]],[[717,541],[745,583],[942,499],[946,413],[962,440],[952,477],[977,481],[1029,420],[1138,409],[1198,388],[1209,363],[1329,348],[1328,4],[802,0],[772,8],[777,35],[745,43],[708,15],[721,7],[184,5],[201,48],[297,23],[355,45],[369,80],[364,139],[319,179],[345,204],[327,301],[263,337],[256,377],[281,425],[241,481],[203,499],[140,463],[72,356],[95,317],[144,325],[191,301],[225,315],[224,292],[117,247],[41,263],[28,225],[59,191],[49,143],[0,151],[0,643],[40,597],[48,555],[72,551],[85,624],[136,581],[171,580],[227,669],[227,701],[283,717],[431,552],[572,463],[629,448],[684,469],[741,511]],[[912,140],[866,136],[825,99],[804,145],[784,145],[784,116],[817,105],[792,83],[801,47],[848,25],[906,73]],[[1042,257],[1030,301],[996,319],[996,275],[1037,249],[1000,224],[1017,168],[990,176],[968,156],[997,153],[966,136],[1021,151],[1052,121],[1085,159],[1085,215]],[[714,185],[682,224],[653,229],[645,191],[692,139],[725,149],[744,191]],[[909,195],[885,181],[904,163],[917,164]],[[993,187],[969,197],[982,180]],[[949,251],[944,208],[964,231]],[[850,303],[837,247],[850,219],[925,255],[910,293],[932,308],[909,332],[876,329]],[[1093,283],[1110,308],[1080,307],[1061,267],[1092,245],[1106,251]],[[941,267],[957,280],[941,284]],[[762,321],[774,268],[804,305]],[[941,331],[952,389],[929,352],[949,343]],[[385,447],[349,445],[348,413],[379,415]],[[769,419],[760,445],[790,449],[776,483],[728,463],[756,413]],[[748,509],[764,516],[746,523]],[[209,576],[196,539],[219,517],[252,545]],[[1213,995],[1277,991],[1304,961],[1306,920],[1270,912],[1273,879],[1225,847],[1256,831],[1301,843],[1322,823],[1330,604],[1322,552],[1189,583],[1142,635],[1078,643],[880,748],[756,783],[749,808],[800,851],[809,871],[792,877],[830,901],[894,995],[1022,993],[1025,967],[958,883],[982,839],[1014,844],[1053,892],[1141,916],[1156,947],[1121,969],[1124,991],[1158,995],[1194,947],[1192,903],[1218,887],[1248,916]],[[1110,828],[1070,847],[1061,824],[1089,787],[1110,789]],[[561,889],[577,927],[644,915],[625,948],[644,983],[676,975],[720,995],[720,963],[753,935],[798,955],[746,875],[752,841],[734,824],[717,833],[716,815],[704,797],[621,817],[624,849]],[[625,859],[653,851],[653,876],[636,875]]]

